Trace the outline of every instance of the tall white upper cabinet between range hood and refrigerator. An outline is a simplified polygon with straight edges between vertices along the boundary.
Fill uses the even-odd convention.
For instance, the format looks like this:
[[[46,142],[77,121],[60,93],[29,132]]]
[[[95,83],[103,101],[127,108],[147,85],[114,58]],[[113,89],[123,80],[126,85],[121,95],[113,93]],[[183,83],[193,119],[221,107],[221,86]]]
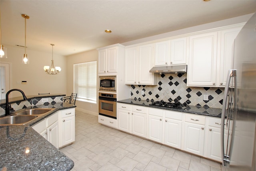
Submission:
[[[234,39],[243,24],[190,36],[188,86],[224,87],[232,68]]]

